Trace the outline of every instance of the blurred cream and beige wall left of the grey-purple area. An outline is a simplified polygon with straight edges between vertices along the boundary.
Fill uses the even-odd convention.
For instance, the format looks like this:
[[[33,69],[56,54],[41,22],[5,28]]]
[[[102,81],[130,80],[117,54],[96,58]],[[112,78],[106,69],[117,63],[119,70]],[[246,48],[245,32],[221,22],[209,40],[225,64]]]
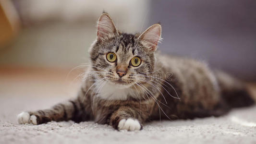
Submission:
[[[108,12],[127,32],[146,23],[148,0],[12,0],[23,24],[0,49],[0,66],[73,68],[88,63],[98,17]]]

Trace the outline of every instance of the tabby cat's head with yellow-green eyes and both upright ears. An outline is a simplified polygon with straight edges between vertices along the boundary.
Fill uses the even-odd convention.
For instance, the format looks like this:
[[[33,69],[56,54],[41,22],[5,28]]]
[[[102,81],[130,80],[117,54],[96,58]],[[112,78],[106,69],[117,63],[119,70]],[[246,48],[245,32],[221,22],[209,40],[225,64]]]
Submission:
[[[98,19],[97,39],[90,48],[92,73],[100,81],[129,87],[146,79],[154,71],[161,25],[153,24],[142,34],[117,30],[107,13]]]

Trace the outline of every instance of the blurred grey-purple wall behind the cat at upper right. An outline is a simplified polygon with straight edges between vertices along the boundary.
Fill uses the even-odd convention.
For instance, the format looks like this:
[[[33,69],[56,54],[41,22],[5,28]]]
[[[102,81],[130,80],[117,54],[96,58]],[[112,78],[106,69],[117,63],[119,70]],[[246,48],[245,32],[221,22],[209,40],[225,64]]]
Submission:
[[[256,0],[152,0],[149,15],[161,51],[256,80]]]

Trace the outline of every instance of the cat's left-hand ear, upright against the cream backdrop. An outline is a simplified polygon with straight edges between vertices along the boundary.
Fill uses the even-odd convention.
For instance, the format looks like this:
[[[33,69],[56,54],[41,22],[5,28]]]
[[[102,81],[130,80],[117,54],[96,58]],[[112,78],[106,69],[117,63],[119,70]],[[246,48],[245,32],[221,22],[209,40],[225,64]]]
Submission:
[[[113,23],[109,14],[103,12],[98,19],[97,39],[105,39],[115,34],[118,35],[115,24]]]

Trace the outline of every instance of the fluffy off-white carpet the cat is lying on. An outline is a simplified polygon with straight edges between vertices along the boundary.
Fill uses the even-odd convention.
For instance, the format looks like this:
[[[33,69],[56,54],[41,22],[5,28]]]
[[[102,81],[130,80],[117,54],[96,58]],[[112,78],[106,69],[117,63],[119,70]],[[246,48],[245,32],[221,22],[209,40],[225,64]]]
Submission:
[[[256,107],[220,118],[154,121],[142,131],[115,131],[94,122],[19,125],[24,109],[47,108],[61,98],[0,98],[0,144],[256,144]]]

